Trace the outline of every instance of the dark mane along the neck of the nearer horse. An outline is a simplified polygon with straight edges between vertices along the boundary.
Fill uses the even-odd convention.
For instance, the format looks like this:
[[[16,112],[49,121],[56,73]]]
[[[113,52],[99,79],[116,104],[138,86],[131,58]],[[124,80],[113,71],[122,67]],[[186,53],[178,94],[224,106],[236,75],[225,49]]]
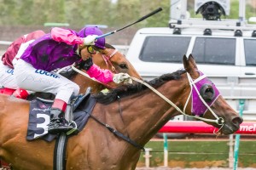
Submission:
[[[158,88],[165,82],[168,82],[170,80],[180,79],[181,75],[184,72],[186,72],[186,71],[178,70],[173,73],[164,74],[160,77],[154,78],[153,80],[151,80],[147,83],[154,88]],[[131,94],[137,94],[139,92],[142,92],[145,89],[147,89],[147,87],[141,83],[126,84],[126,85],[120,86],[118,88],[111,89],[107,94],[104,94],[102,92],[100,92],[99,94],[94,94],[94,97],[97,99],[97,101],[99,103],[108,105],[117,99],[124,98]]]

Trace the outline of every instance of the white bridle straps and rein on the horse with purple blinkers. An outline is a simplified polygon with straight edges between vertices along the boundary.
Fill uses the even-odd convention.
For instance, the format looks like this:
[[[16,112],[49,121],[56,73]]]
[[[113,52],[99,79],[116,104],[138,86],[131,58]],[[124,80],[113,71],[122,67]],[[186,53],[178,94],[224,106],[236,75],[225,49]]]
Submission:
[[[202,100],[203,104],[207,106],[207,109],[209,111],[211,111],[212,115],[216,118],[215,120],[212,120],[212,119],[207,119],[207,118],[203,118],[203,117],[200,117],[200,116],[190,116],[190,117],[193,117],[193,118],[196,118],[196,119],[199,119],[201,121],[205,121],[205,122],[215,122],[216,124],[218,125],[221,125],[221,127],[218,129],[218,132],[220,131],[220,129],[224,126],[224,119],[222,117],[218,117],[216,115],[216,113],[214,113],[214,111],[212,111],[212,109],[210,108],[209,105],[207,105],[207,103],[204,101],[204,99],[202,99],[201,97],[201,94],[199,93],[198,89],[195,87],[195,82],[199,82],[201,81],[203,78],[205,78],[206,76],[203,75],[201,77],[198,77],[195,79],[195,81],[192,80],[192,78],[190,77],[189,73],[187,73],[187,77],[189,79],[189,85],[190,85],[190,94],[189,94],[189,97],[186,101],[186,104],[184,106],[184,109],[183,111],[179,109],[179,107],[177,107],[177,105],[175,105],[174,103],[172,103],[172,101],[170,99],[167,99],[166,96],[164,96],[163,94],[160,94],[160,92],[158,92],[155,88],[153,88],[152,86],[150,86],[147,82],[143,82],[142,80],[140,79],[137,79],[136,77],[131,77],[132,80],[136,81],[136,82],[140,82],[142,83],[143,85],[147,86],[149,89],[151,89],[155,94],[158,94],[160,96],[160,98],[166,100],[166,102],[170,105],[172,105],[172,107],[174,107],[177,111],[179,111],[180,113],[182,113],[184,116],[190,116],[188,114],[185,113],[185,109],[186,109],[186,106],[187,104],[189,103],[189,98],[191,97],[191,94],[192,94],[192,88],[195,88],[196,90],[196,93],[198,94],[198,96],[200,97],[200,99]],[[216,132],[216,133],[218,133]]]

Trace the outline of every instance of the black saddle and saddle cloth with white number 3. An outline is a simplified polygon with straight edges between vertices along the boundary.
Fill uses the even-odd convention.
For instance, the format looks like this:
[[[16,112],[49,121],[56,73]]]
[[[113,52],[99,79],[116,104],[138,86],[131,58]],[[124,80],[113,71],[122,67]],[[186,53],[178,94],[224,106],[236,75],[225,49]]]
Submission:
[[[79,133],[85,126],[90,112],[96,104],[96,99],[90,95],[90,90],[84,95],[79,95],[67,108],[66,120],[73,126],[67,135]],[[58,135],[48,133],[49,110],[52,105],[51,100],[34,99],[30,102],[29,122],[27,128],[27,140],[44,139],[52,141]]]

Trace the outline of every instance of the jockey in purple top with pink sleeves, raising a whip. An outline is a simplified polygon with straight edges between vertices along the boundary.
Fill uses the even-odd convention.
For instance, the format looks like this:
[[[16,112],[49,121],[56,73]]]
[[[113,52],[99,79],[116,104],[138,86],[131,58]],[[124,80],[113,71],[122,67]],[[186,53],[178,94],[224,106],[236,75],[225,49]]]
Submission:
[[[30,43],[20,59],[13,60],[14,76],[20,88],[55,94],[49,133],[67,132],[73,128],[64,116],[71,96],[79,94],[79,85],[51,71],[77,63],[83,65],[90,77],[104,83],[119,83],[129,78],[125,73],[113,74],[92,63],[91,54],[105,48],[105,38],[96,39],[100,35],[102,31],[96,26],[84,27],[79,32],[55,27]]]

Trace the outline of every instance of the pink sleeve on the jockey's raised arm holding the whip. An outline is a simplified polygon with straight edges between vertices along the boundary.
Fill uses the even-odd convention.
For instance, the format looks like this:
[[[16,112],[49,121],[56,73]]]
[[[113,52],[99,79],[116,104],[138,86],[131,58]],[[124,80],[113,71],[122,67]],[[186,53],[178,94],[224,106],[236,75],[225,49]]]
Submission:
[[[50,31],[51,38],[56,42],[66,42],[69,45],[83,44],[84,38],[77,37],[72,31],[55,27]]]

